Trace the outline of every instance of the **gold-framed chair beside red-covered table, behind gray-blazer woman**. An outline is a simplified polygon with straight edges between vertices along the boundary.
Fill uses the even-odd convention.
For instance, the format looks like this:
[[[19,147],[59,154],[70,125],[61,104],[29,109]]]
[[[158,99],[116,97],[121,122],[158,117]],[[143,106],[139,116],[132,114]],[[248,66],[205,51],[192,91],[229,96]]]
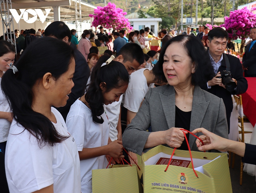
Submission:
[[[242,107],[242,95],[234,95],[236,104],[237,104],[237,109],[238,109],[238,126],[239,126],[239,141],[243,143],[250,143],[251,135],[252,135],[252,130],[253,126],[251,123],[244,123],[243,121],[243,107]],[[233,157],[233,164],[232,168],[234,168],[234,159],[235,156]],[[243,177],[243,162],[241,158],[241,164],[240,164],[240,185],[242,185],[242,177]]]

